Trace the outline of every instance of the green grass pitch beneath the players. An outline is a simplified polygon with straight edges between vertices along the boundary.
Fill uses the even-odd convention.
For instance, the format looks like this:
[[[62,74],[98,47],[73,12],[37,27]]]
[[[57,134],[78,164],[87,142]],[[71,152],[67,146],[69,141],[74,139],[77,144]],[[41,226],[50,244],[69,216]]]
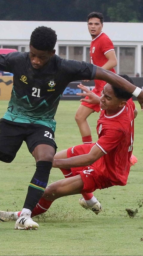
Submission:
[[[38,231],[14,230],[15,222],[0,222],[0,255],[143,255],[143,113],[136,101],[133,154],[138,163],[131,167],[126,186],[97,190],[94,195],[102,203],[103,211],[95,215],[78,204],[80,195],[59,198],[49,211],[35,217]],[[7,109],[7,101],[0,101],[0,116]],[[55,141],[58,149],[81,144],[81,136],[74,120],[79,101],[60,101],[55,119]],[[98,114],[92,114],[89,124],[97,140]],[[0,162],[0,210],[21,210],[29,181],[35,172],[35,160],[25,142],[12,163]],[[62,179],[62,173],[52,168],[49,184]],[[130,218],[130,208],[138,213]]]

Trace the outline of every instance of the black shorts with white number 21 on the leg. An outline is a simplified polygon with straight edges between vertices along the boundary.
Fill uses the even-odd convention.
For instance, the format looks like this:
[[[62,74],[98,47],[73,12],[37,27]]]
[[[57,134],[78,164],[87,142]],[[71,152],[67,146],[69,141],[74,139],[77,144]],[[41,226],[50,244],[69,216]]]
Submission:
[[[40,144],[47,144],[57,150],[54,132],[51,128],[41,124],[26,124],[0,119],[0,160],[11,162],[26,142],[29,152]]]

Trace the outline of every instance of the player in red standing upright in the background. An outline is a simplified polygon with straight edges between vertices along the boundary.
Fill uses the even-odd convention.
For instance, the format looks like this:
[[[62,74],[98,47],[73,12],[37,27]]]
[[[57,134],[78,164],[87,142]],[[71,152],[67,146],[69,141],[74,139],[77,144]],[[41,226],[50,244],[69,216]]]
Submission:
[[[117,65],[117,59],[114,45],[111,39],[102,31],[103,21],[104,17],[102,13],[92,12],[87,17],[88,30],[92,37],[90,59],[92,64],[116,73],[114,67]],[[94,80],[94,83],[95,88],[92,91],[100,97],[106,82],[102,80]],[[80,129],[84,144],[92,143],[91,129],[87,118],[93,112],[100,112],[100,104],[82,102],[75,115],[75,120]]]

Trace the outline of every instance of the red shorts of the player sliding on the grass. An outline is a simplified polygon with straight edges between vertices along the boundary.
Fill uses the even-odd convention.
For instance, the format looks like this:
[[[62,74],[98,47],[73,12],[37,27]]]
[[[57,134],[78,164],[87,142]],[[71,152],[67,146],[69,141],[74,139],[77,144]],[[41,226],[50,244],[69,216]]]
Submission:
[[[95,143],[90,143],[70,147],[67,150],[67,157],[69,158],[72,156],[87,154],[91,150],[91,147],[93,147],[94,145]],[[102,170],[99,169],[99,165],[98,168],[96,167],[97,161],[89,166],[71,168],[73,176],[80,174],[83,180],[84,186],[81,193],[91,193],[94,192],[96,189],[105,189],[114,186],[114,184],[111,183],[111,181],[104,176]]]

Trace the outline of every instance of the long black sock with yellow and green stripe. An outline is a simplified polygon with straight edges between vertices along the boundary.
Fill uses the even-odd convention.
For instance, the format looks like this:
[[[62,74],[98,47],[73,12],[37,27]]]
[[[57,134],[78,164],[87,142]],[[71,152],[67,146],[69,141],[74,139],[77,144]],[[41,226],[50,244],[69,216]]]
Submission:
[[[52,162],[38,161],[36,163],[36,171],[29,184],[23,208],[31,211],[34,209],[47,186],[51,168]]]

